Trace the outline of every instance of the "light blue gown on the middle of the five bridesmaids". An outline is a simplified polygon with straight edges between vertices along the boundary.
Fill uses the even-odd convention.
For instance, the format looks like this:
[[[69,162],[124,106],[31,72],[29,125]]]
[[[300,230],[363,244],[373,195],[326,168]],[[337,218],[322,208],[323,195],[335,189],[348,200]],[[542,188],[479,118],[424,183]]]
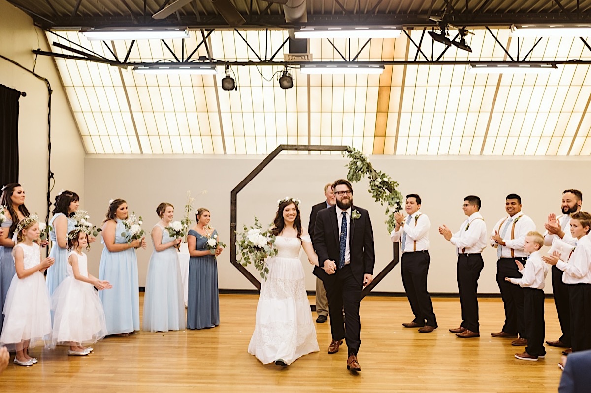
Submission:
[[[125,244],[126,232],[122,220],[117,220],[115,244]],[[101,240],[105,244],[105,240]],[[112,284],[111,289],[99,291],[105,309],[108,335],[119,335],[139,330],[138,259],[135,248],[111,253],[103,248],[100,256],[99,280]]]

